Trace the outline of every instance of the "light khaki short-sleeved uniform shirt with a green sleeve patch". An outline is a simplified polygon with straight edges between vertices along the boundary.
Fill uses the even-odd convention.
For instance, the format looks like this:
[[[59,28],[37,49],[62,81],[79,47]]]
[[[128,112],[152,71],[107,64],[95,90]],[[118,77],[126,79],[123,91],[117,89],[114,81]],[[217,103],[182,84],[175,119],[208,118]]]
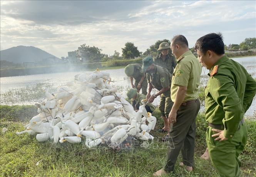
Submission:
[[[198,98],[201,72],[202,65],[190,50],[177,60],[177,66],[172,74],[171,99],[173,102],[179,86],[187,87],[183,103]]]

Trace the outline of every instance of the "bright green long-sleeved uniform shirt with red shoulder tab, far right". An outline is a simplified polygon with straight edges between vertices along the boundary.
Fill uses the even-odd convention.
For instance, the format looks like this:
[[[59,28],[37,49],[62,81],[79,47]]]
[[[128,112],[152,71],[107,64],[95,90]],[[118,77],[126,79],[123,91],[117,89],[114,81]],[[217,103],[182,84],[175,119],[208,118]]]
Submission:
[[[227,56],[218,60],[216,65],[217,73],[208,74],[210,78],[205,88],[206,121],[224,124],[224,136],[231,138],[253,101],[256,81],[242,65]]]

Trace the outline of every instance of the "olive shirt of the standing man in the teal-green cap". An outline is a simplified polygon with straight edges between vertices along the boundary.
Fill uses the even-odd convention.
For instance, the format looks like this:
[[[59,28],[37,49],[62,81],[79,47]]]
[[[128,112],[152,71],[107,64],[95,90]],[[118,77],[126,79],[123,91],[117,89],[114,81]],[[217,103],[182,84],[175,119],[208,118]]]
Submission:
[[[166,68],[155,65],[153,73],[147,73],[147,82],[151,83],[154,88],[161,90],[171,84],[171,74]]]

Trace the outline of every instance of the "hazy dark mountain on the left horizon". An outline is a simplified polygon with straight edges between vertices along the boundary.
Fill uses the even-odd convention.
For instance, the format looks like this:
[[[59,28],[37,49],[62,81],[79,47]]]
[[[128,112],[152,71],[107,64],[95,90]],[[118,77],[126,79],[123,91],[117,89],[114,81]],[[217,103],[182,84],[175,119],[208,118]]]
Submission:
[[[35,60],[38,61],[49,57],[57,58],[54,55],[33,46],[20,45],[0,51],[0,60],[6,60],[13,63],[35,62]]]

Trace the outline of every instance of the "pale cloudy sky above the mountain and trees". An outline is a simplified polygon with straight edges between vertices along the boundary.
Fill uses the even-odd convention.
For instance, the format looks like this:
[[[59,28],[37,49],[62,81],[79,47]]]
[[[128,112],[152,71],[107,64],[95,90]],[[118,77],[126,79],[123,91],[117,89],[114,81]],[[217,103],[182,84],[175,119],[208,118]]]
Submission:
[[[122,53],[186,36],[189,47],[211,32],[224,43],[256,37],[256,1],[1,1],[0,49],[35,46],[57,57],[85,43]]]

